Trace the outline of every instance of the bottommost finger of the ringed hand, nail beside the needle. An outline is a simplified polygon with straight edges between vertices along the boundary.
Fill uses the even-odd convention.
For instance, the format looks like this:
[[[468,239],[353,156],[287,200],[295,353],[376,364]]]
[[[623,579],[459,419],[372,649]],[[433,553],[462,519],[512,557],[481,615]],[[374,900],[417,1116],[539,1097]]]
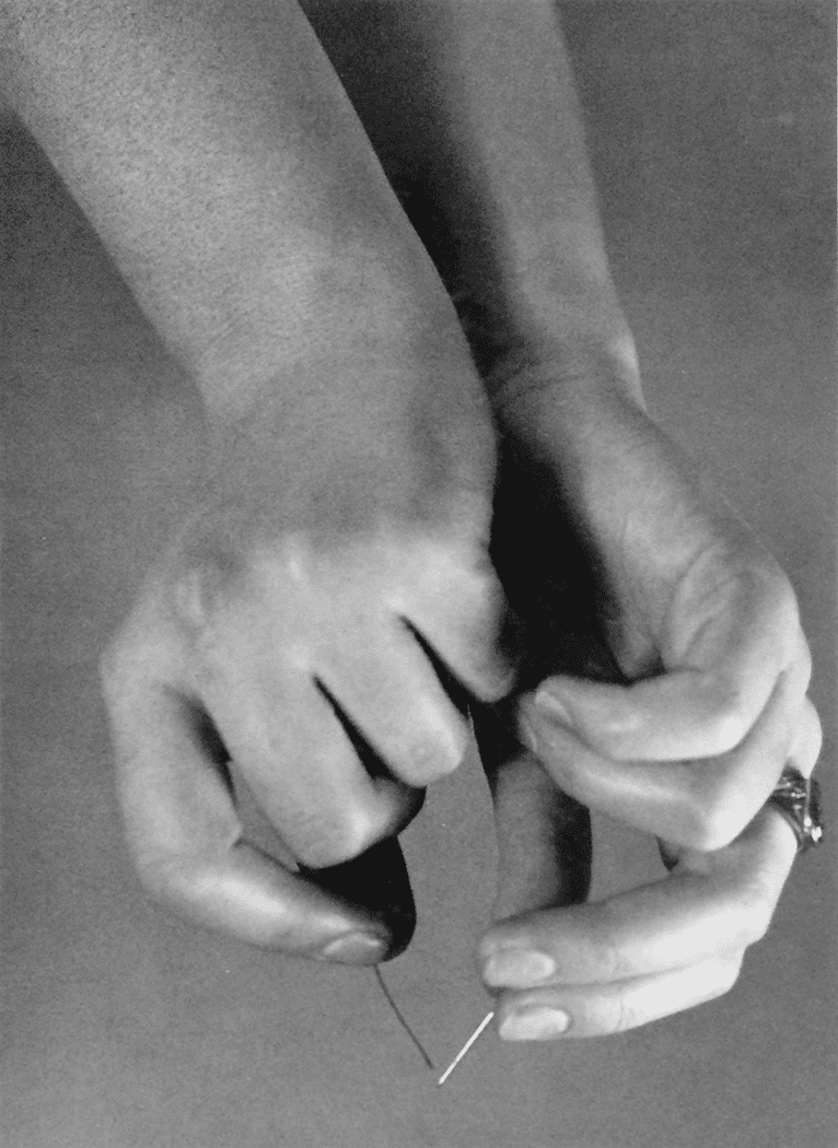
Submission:
[[[504,1040],[602,1037],[695,1008],[728,992],[743,953],[657,976],[606,985],[503,993],[496,1008]]]

